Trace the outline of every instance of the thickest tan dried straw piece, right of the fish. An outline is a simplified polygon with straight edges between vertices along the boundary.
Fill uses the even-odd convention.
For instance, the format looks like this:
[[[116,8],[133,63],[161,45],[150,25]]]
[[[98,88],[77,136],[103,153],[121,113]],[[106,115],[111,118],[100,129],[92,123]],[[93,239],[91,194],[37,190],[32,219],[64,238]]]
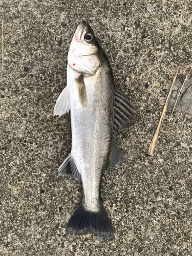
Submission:
[[[180,68],[180,67],[179,67]],[[177,73],[174,77],[174,80],[173,80],[173,83],[172,83],[172,86],[170,87],[170,90],[169,90],[169,93],[168,93],[168,96],[167,96],[167,99],[166,99],[166,102],[165,102],[165,105],[164,105],[164,108],[163,108],[163,112],[161,114],[161,118],[159,120],[159,124],[157,126],[157,130],[153,136],[153,139],[152,139],[152,142],[150,144],[150,147],[148,148],[148,154],[149,155],[152,155],[154,150],[155,150],[155,144],[158,140],[158,137],[159,137],[159,134],[160,134],[160,131],[161,131],[161,126],[162,126],[162,123],[163,123],[163,118],[165,116],[165,112],[166,112],[166,109],[167,109],[167,105],[168,105],[168,102],[169,102],[169,99],[170,99],[170,95],[172,94],[172,89],[174,87],[174,83],[175,83],[175,80],[176,80],[176,77],[177,77],[177,74],[178,74],[178,71],[179,71],[179,68],[177,69]]]

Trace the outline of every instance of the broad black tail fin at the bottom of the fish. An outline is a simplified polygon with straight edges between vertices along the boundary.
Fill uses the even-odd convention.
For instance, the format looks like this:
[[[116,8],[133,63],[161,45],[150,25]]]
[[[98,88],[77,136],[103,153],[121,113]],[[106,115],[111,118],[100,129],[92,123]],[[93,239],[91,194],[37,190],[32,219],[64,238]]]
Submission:
[[[82,199],[79,207],[70,218],[66,231],[74,234],[82,234],[91,231],[100,238],[114,239],[112,224],[105,213],[101,201],[100,210],[95,212],[85,210]]]

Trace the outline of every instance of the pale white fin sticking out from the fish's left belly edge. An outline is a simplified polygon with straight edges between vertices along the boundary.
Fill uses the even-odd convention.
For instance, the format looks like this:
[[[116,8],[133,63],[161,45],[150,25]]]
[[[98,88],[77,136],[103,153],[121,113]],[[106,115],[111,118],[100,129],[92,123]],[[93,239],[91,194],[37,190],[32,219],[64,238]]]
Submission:
[[[57,99],[54,115],[62,116],[71,109],[69,86],[66,86]]]

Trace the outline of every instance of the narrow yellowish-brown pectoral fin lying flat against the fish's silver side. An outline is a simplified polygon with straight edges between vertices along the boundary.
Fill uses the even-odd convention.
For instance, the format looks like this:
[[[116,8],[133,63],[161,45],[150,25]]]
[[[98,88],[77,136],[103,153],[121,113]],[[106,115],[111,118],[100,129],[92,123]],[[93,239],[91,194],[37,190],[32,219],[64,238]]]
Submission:
[[[88,106],[88,97],[82,75],[80,75],[78,79],[75,79],[75,84],[78,90],[79,102],[81,103],[81,106],[86,109]]]

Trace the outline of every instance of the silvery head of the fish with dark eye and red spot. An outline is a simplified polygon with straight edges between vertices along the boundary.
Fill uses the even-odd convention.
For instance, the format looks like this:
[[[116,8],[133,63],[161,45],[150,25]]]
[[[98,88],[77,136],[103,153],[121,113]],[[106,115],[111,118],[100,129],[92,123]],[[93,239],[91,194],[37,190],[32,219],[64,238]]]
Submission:
[[[75,31],[69,53],[69,66],[84,75],[94,75],[100,66],[98,42],[92,28],[82,21]]]

